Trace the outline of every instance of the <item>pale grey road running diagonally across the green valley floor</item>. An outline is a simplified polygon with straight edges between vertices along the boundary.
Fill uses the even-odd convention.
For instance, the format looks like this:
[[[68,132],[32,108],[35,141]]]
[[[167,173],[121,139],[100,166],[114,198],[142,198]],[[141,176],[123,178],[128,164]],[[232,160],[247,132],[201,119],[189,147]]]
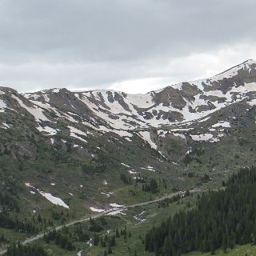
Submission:
[[[194,191],[191,190],[191,192],[194,192]],[[126,209],[129,209],[129,208],[134,208],[134,207],[138,207],[138,206],[147,206],[147,205],[150,205],[150,204],[152,204],[154,202],[161,202],[161,201],[165,200],[166,198],[174,198],[178,194],[182,195],[182,194],[185,194],[185,192],[184,191],[179,191],[179,192],[176,192],[176,193],[173,193],[173,194],[169,194],[169,195],[166,195],[166,196],[164,196],[162,198],[154,199],[154,200],[151,200],[151,201],[148,201],[148,202],[140,202],[138,204],[131,205],[131,206],[122,206],[122,207],[116,207],[116,208],[110,209],[110,210],[105,210],[105,211],[103,211],[100,214],[95,214],[95,215],[87,217],[87,218],[80,218],[78,220],[74,220],[72,222],[68,222],[65,225],[57,226],[56,230],[61,230],[64,226],[73,226],[73,225],[78,224],[78,223],[89,222],[90,218],[94,218],[94,219],[95,218],[101,218],[102,216],[104,216],[106,214],[113,213],[116,210],[126,210]],[[43,238],[43,234],[38,234],[38,235],[36,235],[34,237],[28,238],[24,242],[22,242],[22,244],[25,245],[27,243],[34,242],[34,241],[36,241],[36,240],[38,240],[40,238]],[[5,253],[6,253],[6,250],[0,250],[0,255],[5,254]]]

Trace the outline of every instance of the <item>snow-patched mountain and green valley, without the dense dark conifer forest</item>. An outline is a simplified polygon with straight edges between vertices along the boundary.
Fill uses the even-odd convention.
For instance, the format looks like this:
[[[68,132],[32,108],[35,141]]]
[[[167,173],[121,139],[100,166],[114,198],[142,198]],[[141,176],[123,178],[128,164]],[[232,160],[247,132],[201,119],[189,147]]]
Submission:
[[[0,87],[0,253],[221,255],[150,234],[255,165],[255,117],[254,60],[147,94]]]

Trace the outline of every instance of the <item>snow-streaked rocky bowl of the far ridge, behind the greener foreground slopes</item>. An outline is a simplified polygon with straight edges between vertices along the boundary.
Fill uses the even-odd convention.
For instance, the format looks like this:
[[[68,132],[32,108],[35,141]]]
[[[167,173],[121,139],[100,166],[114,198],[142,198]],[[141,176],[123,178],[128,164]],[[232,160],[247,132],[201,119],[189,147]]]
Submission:
[[[69,111],[66,114],[94,130],[168,128],[204,118],[250,98],[255,90],[255,66],[256,62],[249,60],[212,78],[182,82],[148,94],[113,90],[72,93],[54,89],[24,96],[40,108]]]

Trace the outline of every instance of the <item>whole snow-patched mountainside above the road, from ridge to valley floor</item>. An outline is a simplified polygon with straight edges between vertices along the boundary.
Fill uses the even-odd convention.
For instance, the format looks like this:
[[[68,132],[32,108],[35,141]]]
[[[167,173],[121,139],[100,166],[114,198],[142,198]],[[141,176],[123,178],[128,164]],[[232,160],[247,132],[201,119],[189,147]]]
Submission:
[[[54,203],[80,216],[145,200],[143,178],[164,179],[166,194],[253,165],[256,62],[148,94],[0,87],[0,113],[0,191],[24,212]]]

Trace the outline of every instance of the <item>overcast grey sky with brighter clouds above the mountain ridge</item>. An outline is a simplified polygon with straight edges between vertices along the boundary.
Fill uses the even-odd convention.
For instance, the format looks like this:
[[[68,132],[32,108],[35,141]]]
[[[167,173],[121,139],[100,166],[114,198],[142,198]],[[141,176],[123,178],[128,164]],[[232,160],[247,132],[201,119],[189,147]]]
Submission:
[[[256,58],[254,0],[1,0],[0,86],[143,94]]]

